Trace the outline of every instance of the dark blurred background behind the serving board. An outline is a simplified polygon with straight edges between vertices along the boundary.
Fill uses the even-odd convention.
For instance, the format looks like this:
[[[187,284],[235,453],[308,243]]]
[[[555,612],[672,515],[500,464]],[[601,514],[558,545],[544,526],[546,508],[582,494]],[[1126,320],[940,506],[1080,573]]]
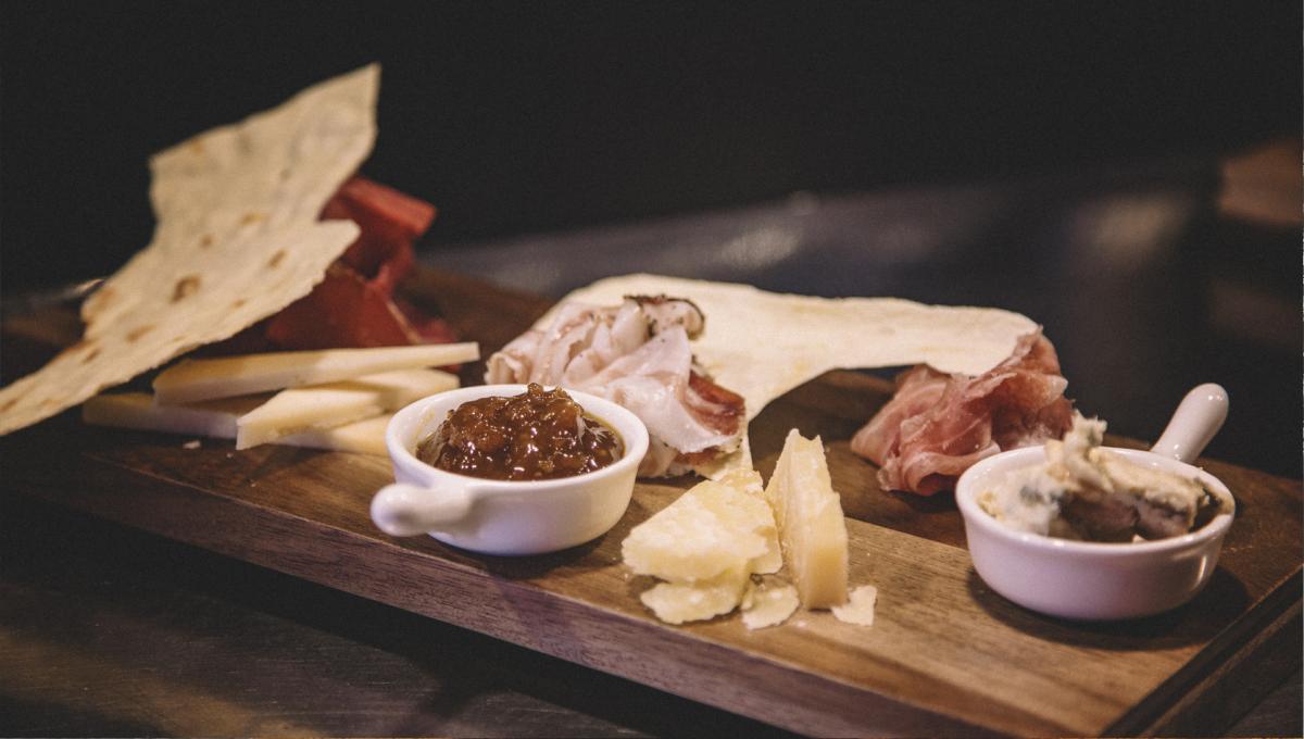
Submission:
[[[429,266],[549,296],[655,270],[999,305],[1069,394],[1300,476],[1299,3],[10,1],[0,291],[150,237],[146,158],[369,61],[364,172]]]

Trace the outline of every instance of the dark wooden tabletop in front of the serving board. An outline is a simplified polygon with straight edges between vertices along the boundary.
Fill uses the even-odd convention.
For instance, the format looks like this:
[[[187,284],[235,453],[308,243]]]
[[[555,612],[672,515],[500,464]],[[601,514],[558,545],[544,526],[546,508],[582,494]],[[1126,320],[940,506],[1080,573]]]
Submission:
[[[789,734],[145,532],[0,495],[4,736]]]

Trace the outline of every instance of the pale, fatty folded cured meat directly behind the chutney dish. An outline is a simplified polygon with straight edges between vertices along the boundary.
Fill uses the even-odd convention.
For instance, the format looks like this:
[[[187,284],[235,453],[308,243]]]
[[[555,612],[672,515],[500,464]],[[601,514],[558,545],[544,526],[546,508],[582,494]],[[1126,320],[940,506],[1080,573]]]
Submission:
[[[743,400],[694,366],[702,312],[687,300],[627,297],[619,306],[563,304],[489,357],[485,382],[537,382],[605,398],[648,427],[639,473],[678,474],[738,447]]]

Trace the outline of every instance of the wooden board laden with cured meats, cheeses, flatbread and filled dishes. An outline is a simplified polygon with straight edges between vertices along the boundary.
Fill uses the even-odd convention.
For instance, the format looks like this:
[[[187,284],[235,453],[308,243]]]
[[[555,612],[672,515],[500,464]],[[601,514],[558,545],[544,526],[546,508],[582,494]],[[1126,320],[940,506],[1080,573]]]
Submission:
[[[53,313],[5,322],[9,348],[60,344],[0,390],[7,493],[807,734],[1208,731],[1247,675],[1290,667],[1299,481],[1189,457],[1185,478],[1125,469],[1146,455],[1102,451],[1054,347],[1007,312],[649,275],[552,304],[416,270],[434,210],[356,176],[377,76],[158,155],[155,242],[81,306],[85,330]],[[852,371],[911,365],[896,384]],[[523,395],[472,387],[485,383]],[[458,392],[459,414],[482,403],[463,429],[438,404]],[[439,420],[393,414],[412,401],[450,421],[408,438],[404,413]],[[494,426],[527,407],[540,416]],[[545,450],[595,439],[601,418],[578,413],[596,408],[614,441]],[[622,459],[622,438],[636,454]],[[456,439],[469,456],[450,476]],[[1043,551],[1162,554],[1158,583],[1191,580],[1178,600],[1073,620],[988,587],[951,490],[979,460],[1039,446],[1045,469],[965,515],[1017,524],[988,521]],[[509,447],[528,464],[485,451]],[[447,485],[494,465],[496,499],[535,512],[477,538],[498,503],[452,504]],[[618,506],[549,508],[617,477]],[[493,485],[467,489],[489,499]],[[522,490],[533,498],[512,503]],[[600,525],[576,524],[597,507]],[[1198,557],[1180,549],[1201,537]],[[1116,597],[1110,583],[1129,580],[1112,567],[1089,572],[1099,593],[1069,597]]]

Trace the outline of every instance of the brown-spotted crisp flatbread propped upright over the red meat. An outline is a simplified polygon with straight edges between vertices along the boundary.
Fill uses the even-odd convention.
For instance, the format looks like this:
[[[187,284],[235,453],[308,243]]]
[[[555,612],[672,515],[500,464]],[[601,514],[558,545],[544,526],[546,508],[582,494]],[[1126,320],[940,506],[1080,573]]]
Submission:
[[[82,305],[81,341],[0,390],[0,434],[308,295],[359,235],[318,216],[376,142],[378,87],[373,64],[154,155],[154,239]]]

